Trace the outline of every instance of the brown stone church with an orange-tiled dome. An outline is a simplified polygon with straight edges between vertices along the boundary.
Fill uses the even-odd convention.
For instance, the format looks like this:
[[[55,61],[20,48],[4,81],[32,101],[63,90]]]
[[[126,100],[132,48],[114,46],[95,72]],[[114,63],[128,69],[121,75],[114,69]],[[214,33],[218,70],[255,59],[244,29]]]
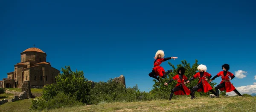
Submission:
[[[30,81],[32,87],[43,87],[55,83],[60,70],[46,61],[46,53],[38,48],[28,48],[20,53],[20,62],[14,65],[14,71],[3,78],[2,86],[21,88],[23,81]]]

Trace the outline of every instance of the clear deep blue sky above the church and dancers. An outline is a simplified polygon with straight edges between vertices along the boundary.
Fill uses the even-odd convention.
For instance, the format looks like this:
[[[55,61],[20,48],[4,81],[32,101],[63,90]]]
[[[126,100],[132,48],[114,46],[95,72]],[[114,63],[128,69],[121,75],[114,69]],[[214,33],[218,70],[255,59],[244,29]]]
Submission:
[[[89,2],[90,1],[90,2]],[[148,76],[157,50],[180,64],[207,65],[215,76],[222,64],[235,87],[253,85],[256,76],[255,0],[1,0],[0,80],[14,71],[20,53],[40,48],[58,70],[70,65],[88,80],[125,76],[127,86],[150,91]],[[161,66],[171,67],[168,62]],[[219,83],[221,78],[215,82]]]

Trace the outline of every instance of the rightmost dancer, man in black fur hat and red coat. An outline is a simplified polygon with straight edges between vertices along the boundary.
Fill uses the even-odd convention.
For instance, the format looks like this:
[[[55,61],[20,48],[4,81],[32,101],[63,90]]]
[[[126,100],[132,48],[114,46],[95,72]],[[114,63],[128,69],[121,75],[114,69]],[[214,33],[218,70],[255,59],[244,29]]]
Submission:
[[[221,72],[219,72],[216,76],[214,76],[210,82],[212,80],[214,80],[215,78],[221,76],[221,83],[218,84],[216,87],[215,87],[215,91],[217,93],[217,97],[219,98],[219,91],[218,89],[220,89],[221,91],[224,91],[226,90],[226,92],[231,92],[231,91],[234,91],[236,92],[237,95],[239,96],[242,96],[238,90],[236,90],[236,88],[233,86],[233,84],[230,82],[230,80],[232,80],[233,78],[235,78],[235,75],[233,73],[230,73],[228,70],[230,69],[230,66],[229,64],[223,64],[222,66],[222,70]],[[231,77],[231,78],[230,78]]]

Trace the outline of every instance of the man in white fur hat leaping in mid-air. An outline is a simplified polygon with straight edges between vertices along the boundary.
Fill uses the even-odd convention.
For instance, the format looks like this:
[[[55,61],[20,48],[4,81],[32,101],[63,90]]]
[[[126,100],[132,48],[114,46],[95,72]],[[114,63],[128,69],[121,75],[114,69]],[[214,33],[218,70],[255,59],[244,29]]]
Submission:
[[[177,57],[168,57],[168,58],[163,58],[163,57],[164,57],[163,50],[158,50],[154,57],[155,61],[154,61],[153,70],[151,73],[148,74],[148,76],[155,78],[158,81],[160,81],[159,77],[165,78],[169,73],[172,72],[172,70],[168,70],[167,72],[165,72],[165,70],[163,69],[163,67],[160,66],[160,64],[169,59],[174,59],[174,60],[177,59]]]

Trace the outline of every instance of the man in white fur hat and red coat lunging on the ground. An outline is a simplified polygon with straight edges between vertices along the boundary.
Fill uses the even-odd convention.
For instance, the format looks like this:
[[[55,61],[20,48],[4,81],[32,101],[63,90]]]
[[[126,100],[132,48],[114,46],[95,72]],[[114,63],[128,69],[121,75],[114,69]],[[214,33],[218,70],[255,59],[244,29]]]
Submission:
[[[198,92],[212,92],[215,96],[217,96],[216,92],[212,90],[212,87],[210,86],[209,82],[207,81],[208,78],[212,78],[212,75],[207,73],[207,67],[203,64],[200,64],[198,66],[199,72],[196,73],[192,78],[189,79],[186,83],[189,83],[190,81],[199,78],[198,84],[191,89],[191,99],[195,98],[195,91]],[[207,78],[208,77],[208,78]]]

